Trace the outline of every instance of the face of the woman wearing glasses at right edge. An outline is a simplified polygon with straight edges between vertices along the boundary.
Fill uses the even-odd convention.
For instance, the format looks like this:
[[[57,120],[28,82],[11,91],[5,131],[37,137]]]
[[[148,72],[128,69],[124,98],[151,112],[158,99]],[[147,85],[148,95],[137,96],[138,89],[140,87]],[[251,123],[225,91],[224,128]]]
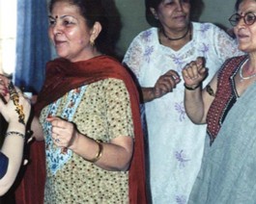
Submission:
[[[254,13],[256,15],[256,1],[243,0],[239,7],[239,14],[242,16],[246,13]],[[252,25],[246,25],[241,19],[234,32],[239,41],[239,49],[246,53],[256,52],[256,22]]]

